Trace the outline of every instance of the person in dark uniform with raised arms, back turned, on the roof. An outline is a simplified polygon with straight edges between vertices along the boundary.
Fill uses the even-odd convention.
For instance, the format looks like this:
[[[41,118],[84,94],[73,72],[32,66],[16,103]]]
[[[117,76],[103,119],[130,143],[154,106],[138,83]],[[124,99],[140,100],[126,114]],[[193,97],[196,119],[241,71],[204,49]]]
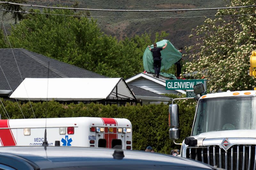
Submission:
[[[160,69],[161,69],[161,52],[166,46],[167,46],[167,43],[165,44],[165,46],[163,47],[157,47],[156,46],[156,43],[153,44],[154,45],[154,48],[150,48],[149,47],[149,50],[153,53],[153,66],[154,66],[154,69],[155,69],[155,74],[153,75],[154,77],[156,78],[159,78],[159,73],[160,73]]]

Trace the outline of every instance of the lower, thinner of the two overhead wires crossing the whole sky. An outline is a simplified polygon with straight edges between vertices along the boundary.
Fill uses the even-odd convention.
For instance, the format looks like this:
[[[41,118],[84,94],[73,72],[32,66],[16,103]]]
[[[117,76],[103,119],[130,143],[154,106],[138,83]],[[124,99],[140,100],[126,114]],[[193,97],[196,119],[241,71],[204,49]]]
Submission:
[[[25,14],[43,14],[43,15],[55,15],[55,16],[68,16],[68,17],[91,17],[91,18],[200,18],[200,17],[236,17],[236,16],[248,16],[248,15],[256,15],[256,14],[237,14],[237,15],[208,15],[208,16],[191,16],[191,17],[108,17],[108,16],[87,16],[87,15],[66,15],[66,14],[50,14],[50,13],[41,13],[41,12],[28,12],[28,11],[12,11],[12,10],[4,10],[1,11],[9,11],[9,12],[19,12]]]

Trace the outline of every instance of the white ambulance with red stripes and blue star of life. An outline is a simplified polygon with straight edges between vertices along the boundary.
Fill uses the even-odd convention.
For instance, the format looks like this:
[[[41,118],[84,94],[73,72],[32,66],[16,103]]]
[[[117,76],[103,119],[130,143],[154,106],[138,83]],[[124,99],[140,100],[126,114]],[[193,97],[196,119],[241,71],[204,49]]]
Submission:
[[[132,124],[124,118],[65,117],[0,120],[2,146],[48,145],[132,149]]]

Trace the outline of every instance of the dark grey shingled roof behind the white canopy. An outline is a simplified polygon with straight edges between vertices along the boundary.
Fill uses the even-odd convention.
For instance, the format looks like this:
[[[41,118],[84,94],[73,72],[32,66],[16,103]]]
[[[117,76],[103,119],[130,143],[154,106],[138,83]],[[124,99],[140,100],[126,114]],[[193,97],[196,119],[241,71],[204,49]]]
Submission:
[[[0,49],[0,66],[2,67],[0,70],[0,90],[14,91],[25,78],[47,78],[48,63],[50,63],[49,78],[107,78],[23,48],[5,48]],[[12,89],[10,89],[6,79]]]

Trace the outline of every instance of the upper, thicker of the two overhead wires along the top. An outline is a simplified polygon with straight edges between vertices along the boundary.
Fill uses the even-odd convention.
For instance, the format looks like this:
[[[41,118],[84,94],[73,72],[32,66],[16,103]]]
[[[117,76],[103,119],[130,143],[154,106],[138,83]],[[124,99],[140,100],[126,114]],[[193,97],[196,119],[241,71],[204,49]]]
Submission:
[[[44,5],[20,4],[13,2],[0,1],[0,4],[14,4],[21,6],[30,6],[38,8],[66,9],[66,10],[85,10],[85,11],[118,11],[118,12],[171,12],[171,11],[205,11],[205,10],[223,10],[256,7],[256,5],[234,6],[234,7],[218,7],[218,8],[198,8],[198,9],[177,9],[177,10],[110,10],[110,9],[91,9],[91,8],[70,8],[70,7],[54,7]]]

